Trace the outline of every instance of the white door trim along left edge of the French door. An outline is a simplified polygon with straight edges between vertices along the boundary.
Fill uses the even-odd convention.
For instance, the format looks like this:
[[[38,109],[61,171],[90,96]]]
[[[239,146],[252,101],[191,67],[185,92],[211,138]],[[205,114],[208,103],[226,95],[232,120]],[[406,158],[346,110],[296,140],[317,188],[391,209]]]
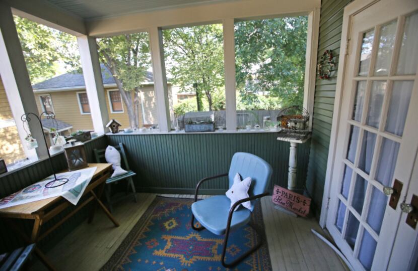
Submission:
[[[335,161],[335,151],[336,151],[336,135],[339,129],[339,118],[341,114],[341,102],[342,102],[342,91],[345,81],[346,73],[346,62],[347,62],[347,52],[349,48],[350,36],[351,36],[351,22],[354,15],[362,12],[371,5],[379,2],[379,0],[355,0],[353,3],[347,5],[344,8],[344,14],[342,19],[342,32],[341,32],[341,43],[339,49],[339,58],[338,58],[338,75],[337,82],[335,87],[335,100],[334,100],[334,110],[332,114],[332,125],[331,125],[331,137],[329,141],[329,150],[328,150],[328,161],[326,166],[326,175],[325,175],[325,185],[324,185],[324,194],[322,196],[322,206],[321,206],[321,216],[319,219],[319,225],[322,228],[325,228],[326,218],[328,215],[328,205],[331,192],[331,180],[333,179],[334,174],[334,161]]]

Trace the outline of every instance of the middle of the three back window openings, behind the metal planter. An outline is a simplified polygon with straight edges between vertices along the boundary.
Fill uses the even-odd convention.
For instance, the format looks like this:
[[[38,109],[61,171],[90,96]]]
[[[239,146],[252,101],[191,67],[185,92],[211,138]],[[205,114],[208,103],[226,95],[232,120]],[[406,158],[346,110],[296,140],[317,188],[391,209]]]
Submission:
[[[163,30],[163,45],[172,128],[225,129],[222,25]]]

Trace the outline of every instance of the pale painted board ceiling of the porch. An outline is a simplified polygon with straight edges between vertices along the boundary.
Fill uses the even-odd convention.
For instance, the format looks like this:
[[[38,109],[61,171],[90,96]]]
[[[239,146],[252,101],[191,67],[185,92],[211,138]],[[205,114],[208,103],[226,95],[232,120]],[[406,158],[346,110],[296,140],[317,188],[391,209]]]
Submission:
[[[45,0],[85,20],[234,0]]]

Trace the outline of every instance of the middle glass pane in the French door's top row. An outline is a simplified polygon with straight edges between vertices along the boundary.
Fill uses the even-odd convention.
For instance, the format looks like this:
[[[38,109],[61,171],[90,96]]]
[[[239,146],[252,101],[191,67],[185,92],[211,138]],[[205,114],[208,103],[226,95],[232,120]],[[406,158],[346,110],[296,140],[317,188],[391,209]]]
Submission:
[[[380,29],[379,49],[377,51],[375,75],[388,75],[395,45],[396,21],[390,22]]]

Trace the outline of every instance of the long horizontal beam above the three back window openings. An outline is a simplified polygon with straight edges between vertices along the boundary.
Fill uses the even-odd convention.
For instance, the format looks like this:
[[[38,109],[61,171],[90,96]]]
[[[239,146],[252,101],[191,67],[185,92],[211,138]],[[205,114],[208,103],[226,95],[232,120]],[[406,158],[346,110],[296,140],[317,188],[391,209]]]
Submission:
[[[222,23],[228,18],[308,15],[320,6],[320,0],[241,0],[91,20],[86,21],[86,27],[90,36],[106,37],[153,27]]]

